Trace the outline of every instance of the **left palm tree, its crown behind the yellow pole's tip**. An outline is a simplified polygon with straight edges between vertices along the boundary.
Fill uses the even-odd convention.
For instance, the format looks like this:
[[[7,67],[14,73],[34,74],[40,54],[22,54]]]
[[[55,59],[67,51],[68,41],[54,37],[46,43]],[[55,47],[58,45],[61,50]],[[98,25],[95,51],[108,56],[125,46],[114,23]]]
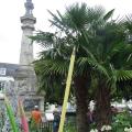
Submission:
[[[57,11],[58,12],[58,11]],[[99,23],[103,9],[96,8],[87,8],[85,3],[80,7],[79,4],[75,4],[69,7],[64,15],[58,12],[58,16],[53,14],[53,20],[51,20],[52,24],[59,29],[59,34],[62,33],[64,36],[58,36],[57,33],[52,36],[51,33],[38,33],[33,40],[41,42],[41,44],[47,46],[52,45],[51,53],[45,57],[43,55],[43,68],[47,74],[52,75],[62,75],[64,78],[67,76],[68,63],[72,53],[73,46],[76,46],[76,63],[75,63],[75,73],[74,73],[74,87],[76,91],[76,100],[77,100],[77,127],[79,132],[86,132],[88,130],[87,124],[87,111],[88,111],[88,87],[90,86],[90,65],[88,62],[82,64],[80,62],[81,57],[91,56],[94,57],[89,51],[86,51],[87,40],[85,38],[84,31],[89,31],[89,37],[92,35],[92,28]],[[98,22],[96,22],[98,20]],[[45,43],[46,42],[46,43]],[[50,66],[46,59],[52,62]],[[65,62],[65,65],[61,62]],[[55,65],[55,64],[57,65]],[[47,65],[48,64],[48,65]],[[63,64],[63,66],[61,65]],[[45,68],[44,67],[47,67]],[[44,74],[44,72],[43,72]],[[47,76],[46,76],[47,77]],[[50,76],[48,76],[50,77]]]

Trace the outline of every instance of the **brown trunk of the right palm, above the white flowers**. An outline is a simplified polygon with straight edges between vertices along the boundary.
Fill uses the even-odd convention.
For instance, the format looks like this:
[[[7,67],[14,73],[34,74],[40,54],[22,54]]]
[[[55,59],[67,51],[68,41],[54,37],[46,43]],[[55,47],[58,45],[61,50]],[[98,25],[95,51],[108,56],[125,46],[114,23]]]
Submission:
[[[98,130],[102,125],[111,122],[110,89],[106,87],[103,81],[99,81],[96,94],[96,123]]]

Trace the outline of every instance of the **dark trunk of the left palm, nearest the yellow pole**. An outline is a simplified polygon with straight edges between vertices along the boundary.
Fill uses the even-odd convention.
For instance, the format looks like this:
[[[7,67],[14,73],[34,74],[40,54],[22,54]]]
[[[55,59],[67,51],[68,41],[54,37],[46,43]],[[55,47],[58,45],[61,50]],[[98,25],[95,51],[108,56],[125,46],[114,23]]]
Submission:
[[[82,77],[75,78],[77,132],[88,132],[88,79]]]

